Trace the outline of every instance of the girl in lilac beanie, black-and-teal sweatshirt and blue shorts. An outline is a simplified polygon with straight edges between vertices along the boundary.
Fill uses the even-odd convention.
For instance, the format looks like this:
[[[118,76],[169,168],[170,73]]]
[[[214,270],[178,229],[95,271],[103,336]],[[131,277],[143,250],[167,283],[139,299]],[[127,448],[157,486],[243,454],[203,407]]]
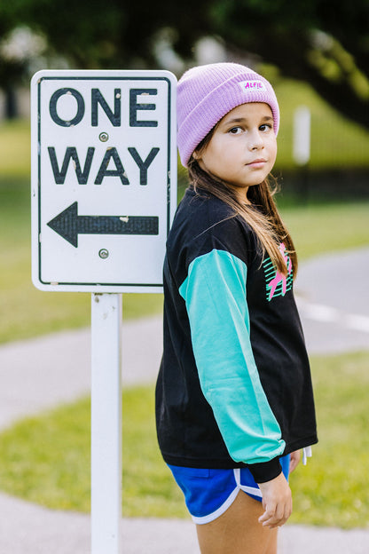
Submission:
[[[161,453],[202,554],[275,554],[288,472],[317,442],[294,244],[267,180],[279,106],[263,76],[210,64],[178,82],[177,122],[190,186],[164,262]]]

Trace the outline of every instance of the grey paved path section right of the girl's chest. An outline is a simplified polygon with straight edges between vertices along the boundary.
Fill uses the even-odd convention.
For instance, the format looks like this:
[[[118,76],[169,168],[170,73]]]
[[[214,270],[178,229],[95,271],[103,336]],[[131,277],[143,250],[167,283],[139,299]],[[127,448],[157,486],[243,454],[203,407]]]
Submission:
[[[368,272],[369,248],[301,265],[296,299],[310,353],[369,348]]]

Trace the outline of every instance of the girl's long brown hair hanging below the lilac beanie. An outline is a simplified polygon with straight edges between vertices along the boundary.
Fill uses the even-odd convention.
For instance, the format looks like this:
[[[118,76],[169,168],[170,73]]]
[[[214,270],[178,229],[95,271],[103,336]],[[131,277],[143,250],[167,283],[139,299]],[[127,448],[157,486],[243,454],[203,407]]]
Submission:
[[[201,141],[196,149],[197,152],[200,152],[208,144],[211,135],[212,131]],[[188,174],[190,184],[195,192],[200,194],[201,191],[204,191],[213,194],[231,207],[234,216],[240,216],[246,221],[247,225],[255,232],[262,256],[264,257],[266,252],[277,270],[287,275],[286,260],[280,250],[280,243],[283,242],[292,261],[295,277],[297,273],[297,255],[291,235],[280,218],[273,200],[273,195],[278,189],[277,181],[274,178],[270,176],[260,185],[250,186],[247,191],[247,198],[251,204],[244,204],[239,201],[237,194],[230,186],[202,170],[193,155],[188,163]]]

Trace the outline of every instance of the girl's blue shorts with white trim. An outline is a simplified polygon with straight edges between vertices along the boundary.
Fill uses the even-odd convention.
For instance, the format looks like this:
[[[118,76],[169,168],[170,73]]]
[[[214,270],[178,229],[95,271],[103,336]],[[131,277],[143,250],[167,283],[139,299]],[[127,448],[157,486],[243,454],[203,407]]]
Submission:
[[[279,458],[288,480],[290,456]],[[196,524],[219,518],[231,506],[239,490],[262,502],[262,493],[247,468],[204,470],[169,465],[177,485],[185,495],[185,504]]]

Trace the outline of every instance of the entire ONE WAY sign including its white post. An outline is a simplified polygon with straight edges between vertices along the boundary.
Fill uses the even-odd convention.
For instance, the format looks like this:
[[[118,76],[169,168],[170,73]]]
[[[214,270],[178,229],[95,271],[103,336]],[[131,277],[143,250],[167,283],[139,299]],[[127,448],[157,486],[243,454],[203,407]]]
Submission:
[[[161,292],[177,209],[176,77],[40,71],[31,83],[32,280],[91,292],[91,548],[118,554],[122,292]]]

